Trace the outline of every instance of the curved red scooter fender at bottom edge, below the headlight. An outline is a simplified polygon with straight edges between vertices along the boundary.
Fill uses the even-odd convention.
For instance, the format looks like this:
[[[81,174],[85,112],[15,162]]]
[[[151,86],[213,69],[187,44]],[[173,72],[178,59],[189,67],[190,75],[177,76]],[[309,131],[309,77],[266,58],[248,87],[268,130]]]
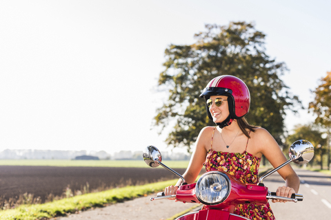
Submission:
[[[200,210],[183,214],[176,220],[243,220],[246,219],[237,214],[232,214],[223,210]],[[249,219],[248,219],[249,220]]]

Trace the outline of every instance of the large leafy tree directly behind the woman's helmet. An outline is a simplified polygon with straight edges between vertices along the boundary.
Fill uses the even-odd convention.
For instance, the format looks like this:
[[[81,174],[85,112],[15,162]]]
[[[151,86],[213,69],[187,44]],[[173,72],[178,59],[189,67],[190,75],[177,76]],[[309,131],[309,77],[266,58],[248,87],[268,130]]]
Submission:
[[[199,131],[214,124],[199,98],[212,78],[232,75],[241,78],[251,95],[250,124],[268,129],[281,142],[285,109],[296,112],[301,104],[279,78],[287,70],[265,54],[265,34],[252,23],[231,22],[228,26],[205,25],[205,32],[195,34],[192,45],[170,45],[165,50],[165,70],[159,75],[159,87],[168,90],[169,98],[157,109],[155,126],[176,121],[165,140],[174,147],[190,146]]]

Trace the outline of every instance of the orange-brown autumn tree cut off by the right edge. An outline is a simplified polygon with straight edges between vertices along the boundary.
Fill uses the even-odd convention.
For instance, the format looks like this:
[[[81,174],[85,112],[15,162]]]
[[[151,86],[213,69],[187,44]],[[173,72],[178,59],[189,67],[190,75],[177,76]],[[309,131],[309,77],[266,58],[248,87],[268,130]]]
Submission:
[[[328,166],[330,166],[330,128],[331,128],[331,72],[327,72],[321,78],[320,85],[312,91],[315,95],[314,101],[309,103],[309,111],[312,111],[317,118],[315,123],[320,124],[328,134]]]

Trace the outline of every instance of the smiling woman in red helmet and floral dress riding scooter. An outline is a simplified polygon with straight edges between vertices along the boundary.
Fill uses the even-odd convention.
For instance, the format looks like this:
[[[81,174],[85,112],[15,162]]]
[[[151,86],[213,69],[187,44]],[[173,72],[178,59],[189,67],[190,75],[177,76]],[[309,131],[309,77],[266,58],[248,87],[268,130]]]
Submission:
[[[248,87],[237,77],[218,76],[208,83],[200,97],[205,98],[208,117],[217,124],[201,130],[192,154],[190,164],[183,174],[188,184],[194,183],[202,166],[205,170],[221,170],[242,183],[257,184],[259,164],[264,155],[277,167],[286,161],[277,142],[263,128],[252,126],[243,118],[250,108]],[[290,165],[278,173],[285,180],[285,186],[277,188],[277,196],[291,197],[299,190],[299,177]],[[176,186],[165,188],[165,195],[174,195]],[[272,202],[285,202],[273,199]],[[248,219],[274,219],[269,203],[265,206],[254,204],[239,205],[234,214]]]

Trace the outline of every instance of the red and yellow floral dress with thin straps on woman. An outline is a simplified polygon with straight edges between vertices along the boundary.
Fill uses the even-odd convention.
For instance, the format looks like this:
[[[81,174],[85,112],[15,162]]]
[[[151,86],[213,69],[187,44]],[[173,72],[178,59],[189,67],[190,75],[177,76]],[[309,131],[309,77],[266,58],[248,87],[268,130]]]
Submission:
[[[214,137],[214,131],[212,131],[212,138]],[[248,153],[246,151],[247,146],[248,141],[243,153],[213,151],[212,146],[210,146],[210,150],[203,163],[205,170],[207,172],[211,170],[224,171],[241,181],[243,184],[257,184],[261,158]],[[272,213],[269,203],[264,206],[255,204],[238,205],[234,208],[234,214],[241,215],[248,219],[274,219],[274,214]]]

